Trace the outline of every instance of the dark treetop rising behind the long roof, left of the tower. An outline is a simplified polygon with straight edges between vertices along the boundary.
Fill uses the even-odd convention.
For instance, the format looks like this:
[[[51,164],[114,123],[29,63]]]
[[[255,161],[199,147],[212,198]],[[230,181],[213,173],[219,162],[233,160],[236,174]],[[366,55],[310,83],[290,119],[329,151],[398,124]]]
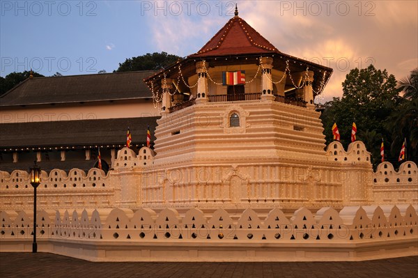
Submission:
[[[130,72],[135,70],[161,70],[171,63],[175,63],[180,56],[167,54],[166,52],[153,54],[147,53],[142,56],[126,59],[125,62],[119,63],[119,68],[114,72]]]

